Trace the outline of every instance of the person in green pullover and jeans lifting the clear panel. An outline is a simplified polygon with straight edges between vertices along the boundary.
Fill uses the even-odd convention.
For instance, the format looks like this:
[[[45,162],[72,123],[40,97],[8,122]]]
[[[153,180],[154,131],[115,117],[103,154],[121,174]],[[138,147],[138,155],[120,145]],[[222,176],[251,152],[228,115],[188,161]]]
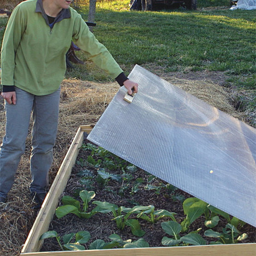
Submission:
[[[89,31],[72,0],[26,0],[18,4],[6,26],[1,48],[2,97],[6,134],[0,146],[0,202],[6,202],[18,163],[24,154],[32,112],[30,192],[41,204],[48,190],[57,134],[60,83],[71,40],[129,94],[138,84],[129,80],[107,48]]]

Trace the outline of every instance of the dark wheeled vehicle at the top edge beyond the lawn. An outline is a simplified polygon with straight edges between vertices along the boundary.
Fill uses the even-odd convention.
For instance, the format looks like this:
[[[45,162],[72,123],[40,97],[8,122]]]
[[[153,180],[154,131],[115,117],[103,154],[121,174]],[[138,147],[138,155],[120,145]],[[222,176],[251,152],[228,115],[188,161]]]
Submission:
[[[196,10],[197,0],[134,0],[131,4],[130,11],[151,11],[160,5],[172,8],[183,6],[189,10]]]

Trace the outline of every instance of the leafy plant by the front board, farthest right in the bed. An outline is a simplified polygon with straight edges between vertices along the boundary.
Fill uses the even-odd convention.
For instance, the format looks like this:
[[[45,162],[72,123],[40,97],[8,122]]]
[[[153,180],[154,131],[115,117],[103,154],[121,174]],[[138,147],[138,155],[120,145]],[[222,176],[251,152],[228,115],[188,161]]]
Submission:
[[[228,223],[225,228],[222,228],[222,233],[215,232],[212,229],[208,229],[204,232],[204,235],[207,237],[218,238],[217,242],[211,242],[210,244],[236,244],[248,237],[246,233],[242,235],[239,234],[238,229],[230,223]]]

